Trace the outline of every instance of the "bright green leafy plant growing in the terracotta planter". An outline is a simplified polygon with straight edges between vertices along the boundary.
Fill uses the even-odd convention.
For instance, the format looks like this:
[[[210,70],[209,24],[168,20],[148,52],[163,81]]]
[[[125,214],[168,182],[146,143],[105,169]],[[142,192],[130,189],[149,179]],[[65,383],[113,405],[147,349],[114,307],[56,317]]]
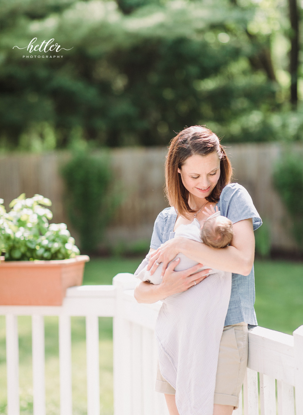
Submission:
[[[3,203],[3,199],[0,199]],[[7,261],[67,259],[80,254],[65,223],[48,224],[51,201],[41,195],[12,200],[10,212],[0,205],[0,248]]]

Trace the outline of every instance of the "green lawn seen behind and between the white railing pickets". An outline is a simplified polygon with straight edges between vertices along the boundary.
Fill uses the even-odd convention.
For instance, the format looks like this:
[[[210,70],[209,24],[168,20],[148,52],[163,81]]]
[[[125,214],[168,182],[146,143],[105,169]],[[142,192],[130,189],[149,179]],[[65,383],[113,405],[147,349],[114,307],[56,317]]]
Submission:
[[[84,284],[111,284],[119,272],[133,273],[142,258],[96,258],[85,266]],[[303,263],[255,261],[259,325],[291,334],[303,324]],[[32,410],[32,339],[30,317],[18,317],[19,378],[22,415]],[[72,317],[74,415],[86,414],[85,319]],[[58,317],[45,317],[46,413],[59,414]],[[99,318],[101,413],[112,415],[112,319]],[[0,316],[0,415],[6,415],[5,319]]]

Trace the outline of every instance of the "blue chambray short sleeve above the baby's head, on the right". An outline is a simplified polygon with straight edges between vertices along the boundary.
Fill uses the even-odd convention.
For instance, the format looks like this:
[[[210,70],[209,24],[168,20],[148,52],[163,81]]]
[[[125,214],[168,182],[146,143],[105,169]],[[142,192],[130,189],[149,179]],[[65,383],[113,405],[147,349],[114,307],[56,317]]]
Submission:
[[[262,220],[247,190],[238,183],[231,183],[223,188],[218,202],[221,215],[233,223],[252,218],[254,230],[262,225]]]

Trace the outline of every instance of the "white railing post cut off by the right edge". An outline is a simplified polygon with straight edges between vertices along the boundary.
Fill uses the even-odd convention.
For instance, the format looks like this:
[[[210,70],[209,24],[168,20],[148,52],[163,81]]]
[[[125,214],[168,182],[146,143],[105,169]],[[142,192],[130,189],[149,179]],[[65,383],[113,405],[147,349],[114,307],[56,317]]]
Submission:
[[[303,415],[303,326],[293,332],[296,415]]]

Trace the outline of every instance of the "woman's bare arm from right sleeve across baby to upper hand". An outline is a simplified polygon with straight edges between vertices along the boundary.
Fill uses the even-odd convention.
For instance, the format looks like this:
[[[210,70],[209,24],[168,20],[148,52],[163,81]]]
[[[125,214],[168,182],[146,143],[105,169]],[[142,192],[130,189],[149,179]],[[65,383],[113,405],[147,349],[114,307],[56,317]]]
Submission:
[[[176,237],[161,245],[150,256],[148,270],[151,273],[157,268],[155,261],[163,262],[162,270],[181,252],[194,261],[207,264],[215,269],[248,275],[255,258],[255,236],[252,219],[240,220],[233,225],[234,236],[230,246],[211,248],[200,242]]]

